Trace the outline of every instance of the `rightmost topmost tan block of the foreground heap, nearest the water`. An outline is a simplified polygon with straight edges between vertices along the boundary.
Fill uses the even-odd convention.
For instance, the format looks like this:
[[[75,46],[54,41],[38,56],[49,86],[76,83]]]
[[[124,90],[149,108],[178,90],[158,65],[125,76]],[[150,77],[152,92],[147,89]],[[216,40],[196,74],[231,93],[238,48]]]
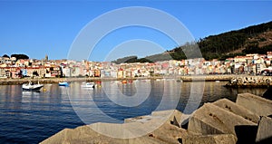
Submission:
[[[238,94],[236,103],[248,110],[251,110],[258,116],[268,116],[272,114],[272,101],[251,93]]]

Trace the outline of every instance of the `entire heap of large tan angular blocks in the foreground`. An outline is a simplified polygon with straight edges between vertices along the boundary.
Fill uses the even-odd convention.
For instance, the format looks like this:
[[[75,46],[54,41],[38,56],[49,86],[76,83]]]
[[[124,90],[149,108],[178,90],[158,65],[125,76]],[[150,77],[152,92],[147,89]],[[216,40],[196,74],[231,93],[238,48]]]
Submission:
[[[191,115],[179,110],[153,111],[151,115],[124,120],[123,124],[94,123],[76,129],[64,129],[42,144],[49,143],[182,143],[234,144],[266,143],[272,139],[272,101],[259,96],[238,94],[236,102],[222,99],[205,103]],[[166,120],[165,120],[166,119]],[[161,123],[162,121],[163,123]],[[117,139],[102,133],[131,136],[161,123],[141,137]],[[146,132],[146,131],[144,131]]]

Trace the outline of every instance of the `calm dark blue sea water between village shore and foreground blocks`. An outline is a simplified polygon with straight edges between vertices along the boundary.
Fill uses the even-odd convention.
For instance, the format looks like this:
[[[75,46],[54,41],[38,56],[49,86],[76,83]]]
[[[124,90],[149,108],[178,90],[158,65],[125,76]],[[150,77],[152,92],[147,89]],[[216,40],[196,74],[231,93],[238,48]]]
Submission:
[[[83,89],[82,83],[73,82],[69,88],[45,84],[40,92],[22,91],[21,85],[0,85],[0,143],[38,143],[64,128],[73,129],[84,125],[84,122],[112,122],[104,119],[105,116],[114,118],[116,121],[113,122],[121,122],[126,118],[150,114],[153,110],[172,107],[185,110],[191,99],[197,99],[193,101],[200,101],[196,104],[202,105],[203,102],[221,98],[235,101],[241,92],[262,95],[266,91],[230,89],[223,87],[226,82],[205,82],[203,95],[191,98],[190,93],[196,92],[201,84],[176,81],[102,82],[96,89]],[[121,94],[129,98],[136,95],[139,99],[124,101]],[[102,116],[98,110],[105,115]]]

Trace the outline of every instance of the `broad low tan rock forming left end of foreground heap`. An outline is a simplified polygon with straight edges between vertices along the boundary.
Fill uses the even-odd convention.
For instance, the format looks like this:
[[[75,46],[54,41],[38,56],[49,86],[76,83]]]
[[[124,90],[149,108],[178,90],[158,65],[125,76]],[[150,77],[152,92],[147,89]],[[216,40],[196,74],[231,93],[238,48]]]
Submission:
[[[160,114],[157,112],[161,112]],[[94,123],[74,130],[62,130],[42,143],[178,143],[188,136],[187,130],[171,124],[178,110],[157,111],[154,116],[128,119],[126,123]],[[167,116],[167,117],[165,117]],[[141,135],[142,134],[142,135]],[[122,138],[120,138],[122,137]],[[131,139],[126,139],[131,138]]]

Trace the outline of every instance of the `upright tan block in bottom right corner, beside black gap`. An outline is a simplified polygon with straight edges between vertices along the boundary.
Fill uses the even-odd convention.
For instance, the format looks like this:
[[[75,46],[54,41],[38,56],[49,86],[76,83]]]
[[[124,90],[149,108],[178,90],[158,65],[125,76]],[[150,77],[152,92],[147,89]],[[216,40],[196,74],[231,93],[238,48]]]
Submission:
[[[272,119],[266,116],[261,117],[257,128],[256,142],[267,143],[272,140]]]

